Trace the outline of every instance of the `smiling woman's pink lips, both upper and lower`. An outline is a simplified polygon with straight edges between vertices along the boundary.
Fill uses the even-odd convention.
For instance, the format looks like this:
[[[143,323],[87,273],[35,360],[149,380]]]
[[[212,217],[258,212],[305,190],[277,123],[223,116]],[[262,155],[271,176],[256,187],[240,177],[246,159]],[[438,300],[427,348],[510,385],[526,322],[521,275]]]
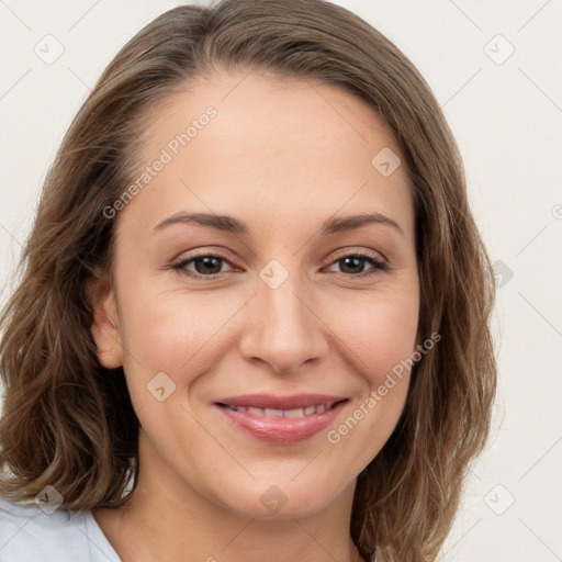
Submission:
[[[244,434],[276,445],[293,445],[304,441],[328,427],[346,406],[345,396],[326,394],[299,394],[274,396],[270,394],[246,394],[221,398],[213,404],[228,422]],[[325,412],[300,417],[266,417],[237,412],[226,406],[243,406],[273,409],[297,409],[312,405],[324,405]]]

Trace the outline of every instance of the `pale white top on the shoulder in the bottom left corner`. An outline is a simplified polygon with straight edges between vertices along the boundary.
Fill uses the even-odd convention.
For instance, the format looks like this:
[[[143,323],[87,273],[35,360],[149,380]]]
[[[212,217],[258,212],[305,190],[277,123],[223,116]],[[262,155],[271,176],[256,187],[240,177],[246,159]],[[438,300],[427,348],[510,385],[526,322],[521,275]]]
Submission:
[[[0,562],[121,562],[91,512],[0,499]]]

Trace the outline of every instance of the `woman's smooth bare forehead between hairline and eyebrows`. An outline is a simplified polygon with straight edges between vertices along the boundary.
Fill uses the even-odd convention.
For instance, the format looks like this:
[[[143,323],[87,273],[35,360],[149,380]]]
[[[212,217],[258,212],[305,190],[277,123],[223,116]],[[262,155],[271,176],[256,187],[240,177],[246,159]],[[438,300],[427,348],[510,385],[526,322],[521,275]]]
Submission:
[[[392,131],[340,87],[215,72],[168,95],[148,116],[135,179],[165,164],[126,214],[259,210],[262,220],[290,221],[372,207],[413,220],[404,166],[389,176],[375,166],[381,154],[395,158],[392,166],[402,159]]]

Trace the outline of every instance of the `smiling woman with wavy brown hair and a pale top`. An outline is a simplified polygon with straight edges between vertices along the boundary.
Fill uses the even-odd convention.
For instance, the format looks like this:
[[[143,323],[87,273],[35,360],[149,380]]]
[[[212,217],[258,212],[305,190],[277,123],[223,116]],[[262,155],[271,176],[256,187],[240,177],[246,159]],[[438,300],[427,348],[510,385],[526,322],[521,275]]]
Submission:
[[[72,122],[1,319],[0,560],[435,560],[488,434],[490,268],[376,30],[166,12]]]

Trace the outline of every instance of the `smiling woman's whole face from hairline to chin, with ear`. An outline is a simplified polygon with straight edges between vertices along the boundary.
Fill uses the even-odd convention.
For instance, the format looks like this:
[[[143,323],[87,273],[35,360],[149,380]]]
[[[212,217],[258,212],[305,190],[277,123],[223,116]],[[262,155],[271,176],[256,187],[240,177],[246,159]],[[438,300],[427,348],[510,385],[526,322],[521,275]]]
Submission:
[[[245,76],[153,112],[92,333],[124,367],[142,474],[178,498],[302,516],[349,501],[403,411],[414,209],[361,100]]]

